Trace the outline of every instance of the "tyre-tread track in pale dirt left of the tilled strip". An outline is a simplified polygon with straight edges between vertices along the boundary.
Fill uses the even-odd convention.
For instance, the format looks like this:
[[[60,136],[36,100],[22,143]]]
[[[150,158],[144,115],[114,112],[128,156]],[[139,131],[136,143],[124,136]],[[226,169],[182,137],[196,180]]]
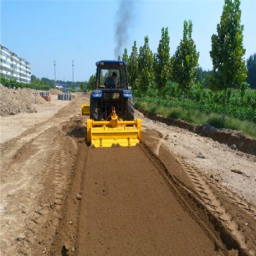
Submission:
[[[44,195],[44,201],[47,203],[40,204],[32,214],[31,221],[26,224],[26,230],[28,230],[26,238],[23,243],[20,243],[24,255],[28,253],[46,254],[50,246],[43,236],[47,234],[52,240],[59,225],[70,169],[67,167],[69,159],[67,160],[67,154],[63,150],[67,146],[67,138],[60,133],[58,137],[60,139],[56,141],[55,148],[50,151],[50,157],[45,165],[45,172],[48,173],[48,176],[44,185],[48,195]],[[47,232],[44,229],[47,229]]]

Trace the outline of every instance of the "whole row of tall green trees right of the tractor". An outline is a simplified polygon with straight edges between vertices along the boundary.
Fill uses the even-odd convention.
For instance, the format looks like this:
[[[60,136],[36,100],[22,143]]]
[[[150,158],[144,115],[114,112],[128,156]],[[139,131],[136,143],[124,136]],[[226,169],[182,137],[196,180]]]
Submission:
[[[211,71],[203,71],[198,65],[200,53],[192,39],[192,21],[184,20],[183,37],[173,56],[170,56],[168,29],[162,28],[157,53],[149,47],[148,36],[139,49],[136,41],[131,54],[127,48],[119,59],[127,61],[129,86],[135,97],[146,97],[149,89],[154,89],[161,105],[167,90],[178,85],[183,93],[183,108],[186,97],[198,86],[222,91],[223,121],[229,89],[238,89],[244,94],[246,89],[256,89],[256,53],[245,61],[243,46],[244,26],[241,25],[240,0],[225,0],[222,16],[217,24],[217,33],[211,37]],[[94,88],[95,76],[89,79],[89,88]]]

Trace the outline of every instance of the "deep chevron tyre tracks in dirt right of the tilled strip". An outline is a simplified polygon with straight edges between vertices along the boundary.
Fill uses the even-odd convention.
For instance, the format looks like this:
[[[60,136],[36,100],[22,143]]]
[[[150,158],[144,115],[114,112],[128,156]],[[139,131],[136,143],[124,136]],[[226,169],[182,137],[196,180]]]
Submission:
[[[158,140],[157,145],[154,147],[154,154],[159,156],[161,146],[168,150],[164,138],[154,139]],[[235,195],[230,190],[203,177],[194,167],[190,166],[183,159],[178,159],[177,161],[184,167],[184,170],[186,170],[200,197],[198,198],[197,195],[193,194],[191,191],[190,192],[197,197],[197,200],[203,202],[207,210],[211,211],[224,227],[230,230],[231,236],[233,236],[239,244],[237,249],[241,247],[241,249],[249,255],[256,255],[255,230],[253,228],[253,226],[256,225],[256,222],[252,221],[250,218],[252,217],[254,220],[256,219],[255,206],[250,205],[246,200],[238,197],[238,195]],[[184,187],[184,189],[186,188]],[[223,200],[224,197],[219,197],[219,193],[217,193],[216,189],[224,195],[225,200]],[[233,214],[229,211],[230,206],[226,202],[227,199],[231,200],[236,206],[242,208],[245,213],[249,215],[247,216],[247,219],[249,217],[250,223],[244,221],[241,224],[241,222],[236,220],[238,214],[237,212],[236,214]],[[228,244],[229,241],[226,241],[226,243]]]

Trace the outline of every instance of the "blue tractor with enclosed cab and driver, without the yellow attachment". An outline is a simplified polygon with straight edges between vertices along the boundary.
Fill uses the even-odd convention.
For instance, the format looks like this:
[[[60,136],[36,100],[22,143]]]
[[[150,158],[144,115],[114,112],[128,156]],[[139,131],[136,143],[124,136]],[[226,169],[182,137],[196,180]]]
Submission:
[[[132,91],[126,61],[97,61],[95,89],[91,92],[90,118],[108,121],[115,109],[118,118],[134,120]]]

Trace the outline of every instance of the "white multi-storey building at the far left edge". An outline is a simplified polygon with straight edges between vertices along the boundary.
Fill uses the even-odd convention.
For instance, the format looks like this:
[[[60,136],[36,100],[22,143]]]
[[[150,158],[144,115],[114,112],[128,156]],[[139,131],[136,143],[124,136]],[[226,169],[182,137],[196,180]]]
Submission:
[[[30,64],[0,44],[0,77],[15,79],[21,83],[31,82]]]

